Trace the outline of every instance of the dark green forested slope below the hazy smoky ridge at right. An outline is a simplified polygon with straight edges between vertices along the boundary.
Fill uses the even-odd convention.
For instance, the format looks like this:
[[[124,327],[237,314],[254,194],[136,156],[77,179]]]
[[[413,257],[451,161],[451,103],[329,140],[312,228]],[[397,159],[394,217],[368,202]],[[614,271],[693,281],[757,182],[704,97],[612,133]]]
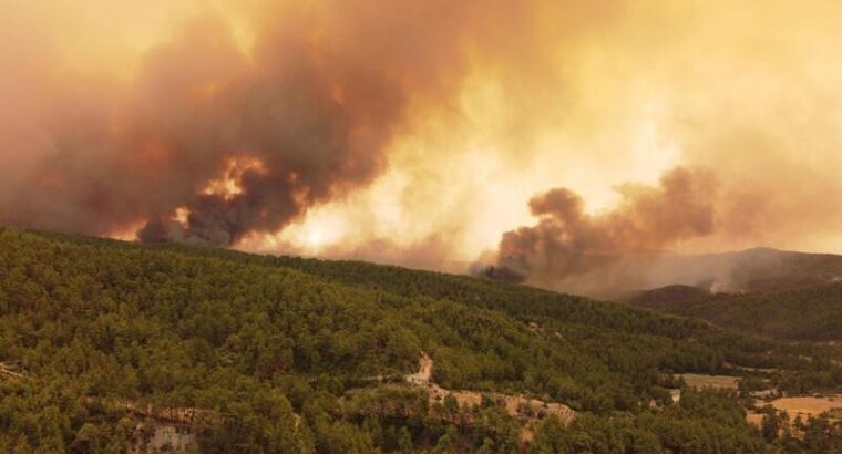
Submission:
[[[842,341],[842,282],[839,281],[747,295],[710,295],[671,286],[643,292],[627,301],[668,313],[705,319],[757,336]]]

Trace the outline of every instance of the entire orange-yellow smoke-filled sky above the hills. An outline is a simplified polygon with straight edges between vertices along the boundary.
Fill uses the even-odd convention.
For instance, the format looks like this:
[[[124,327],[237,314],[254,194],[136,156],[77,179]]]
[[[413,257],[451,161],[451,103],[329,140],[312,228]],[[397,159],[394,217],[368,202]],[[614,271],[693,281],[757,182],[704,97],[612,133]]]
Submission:
[[[4,0],[0,224],[448,271],[842,252],[839,18],[824,0]]]

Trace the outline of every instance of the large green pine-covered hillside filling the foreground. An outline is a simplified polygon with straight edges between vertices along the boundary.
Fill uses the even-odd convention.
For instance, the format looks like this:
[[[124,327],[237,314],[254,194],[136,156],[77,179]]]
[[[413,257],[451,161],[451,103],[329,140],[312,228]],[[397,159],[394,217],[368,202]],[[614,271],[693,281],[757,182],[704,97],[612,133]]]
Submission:
[[[424,353],[480,401],[405,383]],[[735,393],[674,403],[672,373],[805,391],[842,384],[832,360],[470,277],[0,229],[0,452],[122,453],[162,424],[209,453],[773,452]],[[496,398],[521,394],[576,416]]]

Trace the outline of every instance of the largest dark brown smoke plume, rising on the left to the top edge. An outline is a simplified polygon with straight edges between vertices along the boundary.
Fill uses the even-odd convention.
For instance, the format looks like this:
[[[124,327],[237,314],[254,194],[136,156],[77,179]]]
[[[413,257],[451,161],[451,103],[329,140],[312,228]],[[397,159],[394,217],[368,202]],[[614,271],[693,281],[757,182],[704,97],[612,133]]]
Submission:
[[[481,4],[261,7],[247,51],[206,13],[148,50],[127,84],[0,81],[20,106],[24,83],[45,92],[43,112],[0,131],[0,223],[222,246],[278,231],[380,175],[411,110],[455,102],[469,58],[495,45]],[[492,18],[533,7],[499,2]],[[51,74],[54,62],[33,60]]]

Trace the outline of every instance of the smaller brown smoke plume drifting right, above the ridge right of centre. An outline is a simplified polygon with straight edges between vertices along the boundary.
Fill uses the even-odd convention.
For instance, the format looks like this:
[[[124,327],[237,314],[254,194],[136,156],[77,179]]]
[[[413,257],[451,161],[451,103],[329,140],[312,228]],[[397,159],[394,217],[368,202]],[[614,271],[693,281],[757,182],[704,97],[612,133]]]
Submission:
[[[660,185],[626,184],[617,188],[618,206],[587,214],[584,200],[555,188],[530,200],[537,224],[507,231],[497,264],[486,276],[552,285],[585,275],[629,255],[651,255],[715,229],[712,177],[702,171],[675,168]]]

